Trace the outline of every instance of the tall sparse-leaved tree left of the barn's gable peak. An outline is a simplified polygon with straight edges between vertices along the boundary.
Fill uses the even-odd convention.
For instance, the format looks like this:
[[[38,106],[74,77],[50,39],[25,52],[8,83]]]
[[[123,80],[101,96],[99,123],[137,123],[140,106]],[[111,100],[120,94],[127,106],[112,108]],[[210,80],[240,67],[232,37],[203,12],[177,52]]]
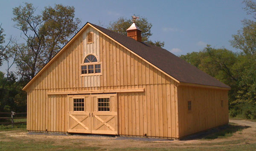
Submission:
[[[56,4],[47,6],[39,15],[31,3],[13,9],[15,28],[22,31],[25,43],[15,44],[17,69],[20,75],[31,79],[67,43],[79,28],[75,8]]]

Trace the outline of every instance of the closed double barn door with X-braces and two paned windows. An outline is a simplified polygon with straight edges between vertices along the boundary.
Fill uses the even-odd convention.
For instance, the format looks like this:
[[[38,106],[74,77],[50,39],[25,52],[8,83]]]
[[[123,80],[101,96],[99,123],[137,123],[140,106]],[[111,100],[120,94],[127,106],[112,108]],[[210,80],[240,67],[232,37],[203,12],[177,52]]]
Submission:
[[[69,95],[69,133],[117,134],[116,94]]]

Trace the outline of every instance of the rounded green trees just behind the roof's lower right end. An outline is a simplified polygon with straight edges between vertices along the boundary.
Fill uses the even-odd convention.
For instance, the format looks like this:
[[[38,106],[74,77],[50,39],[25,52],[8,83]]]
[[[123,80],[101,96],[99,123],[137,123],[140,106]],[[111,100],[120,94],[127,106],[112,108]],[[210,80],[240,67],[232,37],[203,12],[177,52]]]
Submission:
[[[236,100],[238,91],[239,75],[234,68],[238,54],[225,48],[215,49],[208,45],[200,52],[187,53],[181,55],[180,58],[229,85],[231,87],[229,91],[230,108],[234,106],[231,103]]]

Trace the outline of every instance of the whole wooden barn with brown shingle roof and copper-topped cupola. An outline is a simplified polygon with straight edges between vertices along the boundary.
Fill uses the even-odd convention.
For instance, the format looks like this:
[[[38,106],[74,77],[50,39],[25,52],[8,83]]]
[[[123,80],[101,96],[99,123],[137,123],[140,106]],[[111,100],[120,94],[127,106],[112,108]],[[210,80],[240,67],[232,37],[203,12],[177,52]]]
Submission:
[[[180,139],[227,124],[230,87],[140,33],[86,23],[23,88],[27,130]]]

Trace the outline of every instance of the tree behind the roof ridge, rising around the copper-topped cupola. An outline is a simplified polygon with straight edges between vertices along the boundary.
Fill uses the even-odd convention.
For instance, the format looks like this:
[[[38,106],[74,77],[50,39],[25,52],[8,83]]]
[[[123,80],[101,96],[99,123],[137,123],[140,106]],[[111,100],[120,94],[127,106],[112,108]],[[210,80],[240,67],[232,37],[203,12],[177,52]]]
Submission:
[[[134,15],[139,16],[139,15]],[[132,24],[132,19],[127,19],[125,17],[119,17],[116,21],[110,22],[108,29],[114,32],[117,32],[122,35],[127,35],[126,29],[128,29]],[[141,40],[148,44],[155,46],[163,47],[164,42],[161,41],[150,41],[149,37],[152,35],[151,27],[152,24],[148,22],[148,19],[145,17],[139,17],[139,20],[136,21],[136,25],[141,29]]]

